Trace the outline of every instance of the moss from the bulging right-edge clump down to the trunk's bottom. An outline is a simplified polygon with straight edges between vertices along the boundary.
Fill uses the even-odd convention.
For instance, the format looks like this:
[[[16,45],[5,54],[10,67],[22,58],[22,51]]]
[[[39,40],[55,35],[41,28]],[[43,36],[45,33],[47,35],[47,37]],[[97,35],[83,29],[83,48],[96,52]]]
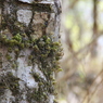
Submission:
[[[40,77],[40,74],[33,73],[33,77],[38,82],[38,90],[30,91],[27,99],[28,102],[37,101],[38,103],[48,103],[48,95],[54,94],[55,80],[53,72],[59,72],[59,60],[61,59],[61,44],[53,42],[48,36],[35,40],[33,47],[31,60],[38,63],[40,70],[47,80]],[[30,59],[30,57],[29,57]],[[56,103],[56,102],[54,102]]]

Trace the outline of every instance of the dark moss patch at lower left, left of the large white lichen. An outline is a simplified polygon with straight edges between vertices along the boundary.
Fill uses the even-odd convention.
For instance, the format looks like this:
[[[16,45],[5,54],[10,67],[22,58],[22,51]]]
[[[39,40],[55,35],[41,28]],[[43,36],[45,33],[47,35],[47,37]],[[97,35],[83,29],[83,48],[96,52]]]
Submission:
[[[0,79],[0,95],[4,93],[5,89],[10,89],[13,95],[18,94],[20,92],[18,80],[20,79],[14,77],[12,73],[8,73],[5,76],[2,76]]]

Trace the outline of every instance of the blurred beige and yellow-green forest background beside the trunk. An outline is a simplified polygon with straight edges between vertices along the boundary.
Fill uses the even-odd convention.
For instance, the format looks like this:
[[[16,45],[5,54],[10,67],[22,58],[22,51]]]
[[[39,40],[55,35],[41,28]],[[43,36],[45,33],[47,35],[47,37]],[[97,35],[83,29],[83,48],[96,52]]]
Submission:
[[[59,103],[103,103],[103,0],[62,0]]]

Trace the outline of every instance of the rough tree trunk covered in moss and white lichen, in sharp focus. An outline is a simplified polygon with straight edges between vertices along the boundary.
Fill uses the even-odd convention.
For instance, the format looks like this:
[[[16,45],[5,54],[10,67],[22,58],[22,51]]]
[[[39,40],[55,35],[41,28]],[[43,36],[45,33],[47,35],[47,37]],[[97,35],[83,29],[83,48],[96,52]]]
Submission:
[[[55,103],[57,0],[0,0],[0,103]]]

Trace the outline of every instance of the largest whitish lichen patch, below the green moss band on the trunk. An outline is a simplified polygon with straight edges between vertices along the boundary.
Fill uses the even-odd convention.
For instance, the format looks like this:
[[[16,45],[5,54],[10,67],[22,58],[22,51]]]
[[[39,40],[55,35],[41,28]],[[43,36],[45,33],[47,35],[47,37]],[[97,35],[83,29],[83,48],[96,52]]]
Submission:
[[[38,83],[31,76],[33,66],[27,66],[27,63],[25,63],[24,57],[18,57],[17,63],[18,63],[17,77],[25,81],[28,88],[37,88]]]

